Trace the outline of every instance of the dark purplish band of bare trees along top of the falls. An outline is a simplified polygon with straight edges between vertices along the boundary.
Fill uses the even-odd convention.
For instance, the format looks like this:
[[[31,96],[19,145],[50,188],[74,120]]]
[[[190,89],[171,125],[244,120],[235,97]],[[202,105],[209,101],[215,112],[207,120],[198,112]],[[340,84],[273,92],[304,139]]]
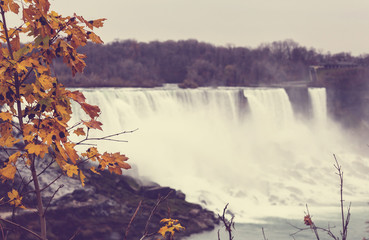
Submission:
[[[258,86],[309,80],[309,66],[369,65],[369,55],[322,53],[293,40],[262,44],[258,48],[214,46],[197,40],[115,41],[89,43],[84,74],[72,77],[61,59],[54,63],[59,81],[69,87],[181,87]]]

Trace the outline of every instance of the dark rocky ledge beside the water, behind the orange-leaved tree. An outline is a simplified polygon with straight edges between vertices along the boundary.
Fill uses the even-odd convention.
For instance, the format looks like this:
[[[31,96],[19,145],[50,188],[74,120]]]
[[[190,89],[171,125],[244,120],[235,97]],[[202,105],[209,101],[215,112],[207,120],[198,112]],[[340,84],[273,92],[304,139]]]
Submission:
[[[171,217],[178,219],[185,231],[176,233],[176,239],[193,233],[212,230],[219,223],[213,212],[198,204],[185,201],[185,195],[169,187],[157,184],[142,185],[129,176],[117,176],[110,173],[87,176],[86,186],[52,201],[47,209],[48,236],[52,239],[124,239],[130,226],[127,239],[140,239],[145,232],[150,213],[160,196],[169,197],[162,202],[148,223],[149,233],[157,232],[160,220]],[[46,199],[47,200],[47,199]],[[30,205],[33,200],[29,199]],[[139,211],[132,221],[139,202]],[[47,202],[47,201],[45,201]],[[16,222],[37,231],[38,216],[35,213],[23,213]],[[153,235],[145,239],[158,239]],[[32,239],[22,231],[10,234],[8,239]]]

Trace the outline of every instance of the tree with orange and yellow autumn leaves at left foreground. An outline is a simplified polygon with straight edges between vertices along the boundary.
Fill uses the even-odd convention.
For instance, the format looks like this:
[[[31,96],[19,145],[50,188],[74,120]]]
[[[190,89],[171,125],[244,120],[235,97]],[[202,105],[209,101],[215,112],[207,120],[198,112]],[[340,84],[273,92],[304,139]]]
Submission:
[[[0,204],[24,208],[27,207],[22,203],[24,195],[35,194],[40,233],[21,228],[39,239],[47,239],[42,193],[53,181],[44,184],[39,178],[46,170],[50,170],[51,165],[57,165],[62,175],[78,176],[82,185],[85,179],[83,171],[98,173],[108,169],[112,173],[122,174],[122,169],[130,168],[126,163],[127,157],[120,153],[99,153],[96,147],[77,152],[76,147],[90,139],[89,131],[102,130],[102,123],[97,120],[100,109],[86,103],[81,92],[66,89],[53,77],[52,72],[56,58],[62,59],[73,75],[82,72],[86,66],[86,56],[78,53],[77,48],[88,41],[102,43],[93,30],[102,27],[105,19],[85,20],[76,14],[64,17],[50,9],[48,0],[2,0],[0,13],[2,184],[13,182],[16,175],[22,172],[21,185],[13,184],[7,196],[0,197]],[[22,24],[9,27],[9,14],[21,16]],[[31,40],[21,44],[24,36]],[[88,116],[88,119],[73,126],[70,125],[72,102],[79,104]],[[73,135],[81,140],[73,142]],[[88,161],[96,162],[98,167],[82,170],[81,166]],[[39,163],[47,163],[47,167],[39,169]],[[30,183],[33,190],[24,192]],[[7,225],[19,227],[12,221],[2,220]]]

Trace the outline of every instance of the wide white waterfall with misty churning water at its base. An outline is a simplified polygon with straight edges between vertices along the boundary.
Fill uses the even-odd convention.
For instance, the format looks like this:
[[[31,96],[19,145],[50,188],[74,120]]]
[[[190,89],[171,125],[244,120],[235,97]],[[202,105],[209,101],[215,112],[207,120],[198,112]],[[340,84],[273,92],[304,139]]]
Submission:
[[[237,222],[301,218],[305,204],[327,212],[338,206],[333,154],[346,202],[369,200],[367,142],[330,120],[325,89],[307,90],[304,116],[282,88],[82,91],[101,107],[100,136],[138,128],[121,138],[128,143],[99,142],[100,149],[125,153],[130,174],[180,189],[210,210],[221,213],[229,203]],[[86,119],[73,112],[72,122]]]

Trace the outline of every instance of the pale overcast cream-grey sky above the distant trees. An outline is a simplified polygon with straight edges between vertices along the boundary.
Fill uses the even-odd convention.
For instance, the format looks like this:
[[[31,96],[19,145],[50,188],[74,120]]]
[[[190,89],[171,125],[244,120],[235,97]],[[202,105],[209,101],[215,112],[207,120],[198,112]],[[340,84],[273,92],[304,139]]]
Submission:
[[[107,18],[105,42],[198,39],[257,47],[292,39],[324,53],[369,53],[369,0],[50,0],[61,14]]]

